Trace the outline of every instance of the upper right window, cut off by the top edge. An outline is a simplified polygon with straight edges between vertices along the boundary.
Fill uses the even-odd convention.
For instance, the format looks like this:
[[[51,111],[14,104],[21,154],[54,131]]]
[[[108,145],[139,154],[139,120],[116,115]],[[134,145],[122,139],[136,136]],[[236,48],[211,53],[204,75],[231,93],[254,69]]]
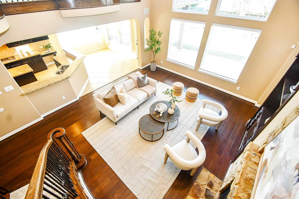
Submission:
[[[219,0],[216,16],[267,21],[276,0]]]

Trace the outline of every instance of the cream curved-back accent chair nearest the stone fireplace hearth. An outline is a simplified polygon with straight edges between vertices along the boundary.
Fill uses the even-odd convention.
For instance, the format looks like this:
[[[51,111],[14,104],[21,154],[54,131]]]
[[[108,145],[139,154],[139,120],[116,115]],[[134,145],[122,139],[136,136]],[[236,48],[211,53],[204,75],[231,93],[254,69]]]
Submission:
[[[168,144],[164,145],[164,151],[166,151],[164,164],[166,164],[169,157],[178,168],[183,170],[192,169],[190,175],[193,176],[197,168],[205,161],[206,152],[202,142],[191,131],[187,131],[185,135],[187,136],[187,140],[182,140],[173,147],[170,147]],[[198,155],[195,149],[189,144],[190,140],[198,148]]]

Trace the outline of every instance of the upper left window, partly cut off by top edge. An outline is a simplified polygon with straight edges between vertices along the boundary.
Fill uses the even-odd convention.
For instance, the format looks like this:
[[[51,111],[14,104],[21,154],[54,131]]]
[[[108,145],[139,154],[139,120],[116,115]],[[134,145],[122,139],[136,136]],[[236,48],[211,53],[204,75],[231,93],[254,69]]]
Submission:
[[[211,0],[173,0],[172,11],[207,15]]]

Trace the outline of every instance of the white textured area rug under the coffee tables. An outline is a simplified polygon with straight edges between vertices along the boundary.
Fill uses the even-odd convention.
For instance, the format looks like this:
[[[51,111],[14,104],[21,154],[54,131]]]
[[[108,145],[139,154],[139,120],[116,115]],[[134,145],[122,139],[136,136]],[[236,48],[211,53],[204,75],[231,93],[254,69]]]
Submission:
[[[188,130],[202,139],[209,128],[201,125],[199,130],[195,131],[198,110],[202,102],[199,99],[193,103],[187,102],[183,93],[180,96],[183,101],[177,103],[181,111],[179,125],[171,131],[166,131],[165,126],[166,132],[156,142],[143,140],[138,133],[138,121],[143,115],[149,114],[152,103],[169,100],[162,93],[167,88],[172,87],[158,82],[156,96],[139,105],[139,109],[134,109],[124,116],[117,125],[105,117],[82,133],[123,183],[140,199],[163,198],[181,171],[170,159],[164,164],[163,146],[165,144],[174,146],[186,139],[185,132]],[[206,108],[219,111],[213,106],[207,105]],[[192,141],[190,143],[193,144]]]

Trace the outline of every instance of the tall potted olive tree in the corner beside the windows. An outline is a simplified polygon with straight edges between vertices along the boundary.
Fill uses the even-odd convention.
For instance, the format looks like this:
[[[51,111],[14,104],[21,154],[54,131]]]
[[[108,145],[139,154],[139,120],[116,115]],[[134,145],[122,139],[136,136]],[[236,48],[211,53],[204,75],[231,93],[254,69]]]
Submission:
[[[153,28],[149,30],[149,38],[145,40],[146,45],[148,48],[144,49],[145,53],[152,52],[154,55],[154,60],[150,63],[150,70],[156,71],[157,62],[155,61],[155,56],[158,52],[161,51],[161,44],[162,42],[159,40],[161,37],[162,32],[161,31],[155,31]]]

